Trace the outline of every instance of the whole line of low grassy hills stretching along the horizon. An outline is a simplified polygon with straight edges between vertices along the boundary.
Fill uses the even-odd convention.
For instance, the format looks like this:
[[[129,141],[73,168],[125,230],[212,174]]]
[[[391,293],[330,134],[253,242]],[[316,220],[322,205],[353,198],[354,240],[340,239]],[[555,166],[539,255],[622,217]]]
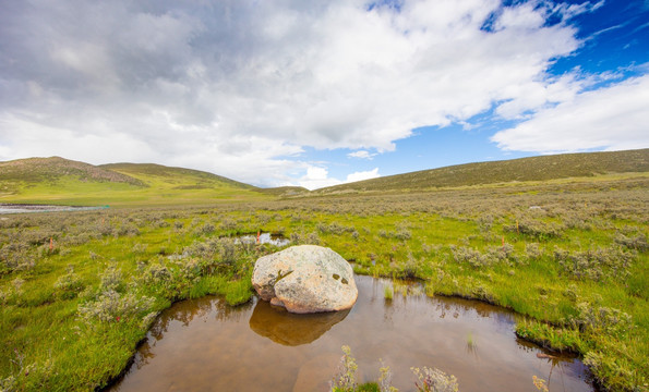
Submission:
[[[204,171],[154,163],[93,166],[60,157],[0,162],[0,203],[77,206],[206,205],[358,192],[443,187],[649,172],[649,149],[479,162],[359,181],[309,192],[259,188]]]

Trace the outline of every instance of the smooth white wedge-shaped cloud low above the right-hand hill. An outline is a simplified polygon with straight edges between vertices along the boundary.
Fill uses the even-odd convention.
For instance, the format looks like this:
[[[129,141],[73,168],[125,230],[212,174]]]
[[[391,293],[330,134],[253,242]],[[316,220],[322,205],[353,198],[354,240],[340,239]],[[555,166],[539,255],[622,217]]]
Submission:
[[[496,133],[500,148],[565,152],[649,147],[649,75],[575,96],[530,120]]]

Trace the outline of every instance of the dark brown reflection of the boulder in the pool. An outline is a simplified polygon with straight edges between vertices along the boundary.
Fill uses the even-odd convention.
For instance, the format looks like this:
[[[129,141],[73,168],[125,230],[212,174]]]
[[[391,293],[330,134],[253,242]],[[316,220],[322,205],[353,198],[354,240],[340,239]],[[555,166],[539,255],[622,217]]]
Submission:
[[[273,342],[297,346],[315,341],[348,314],[349,310],[293,315],[265,301],[259,301],[250,317],[250,329]]]

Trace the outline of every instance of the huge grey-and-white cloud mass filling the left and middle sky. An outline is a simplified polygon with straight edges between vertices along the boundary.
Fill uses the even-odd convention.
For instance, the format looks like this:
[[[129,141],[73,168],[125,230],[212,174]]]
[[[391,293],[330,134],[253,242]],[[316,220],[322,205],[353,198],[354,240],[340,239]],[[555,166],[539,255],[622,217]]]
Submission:
[[[500,102],[516,119],[574,99],[584,83],[545,71],[581,42],[567,23],[544,21],[592,7],[536,4],[544,2],[409,0],[399,12],[369,12],[360,0],[14,2],[0,14],[0,159],[333,183],[304,174],[304,147],[370,159],[368,149],[392,150],[414,127]]]

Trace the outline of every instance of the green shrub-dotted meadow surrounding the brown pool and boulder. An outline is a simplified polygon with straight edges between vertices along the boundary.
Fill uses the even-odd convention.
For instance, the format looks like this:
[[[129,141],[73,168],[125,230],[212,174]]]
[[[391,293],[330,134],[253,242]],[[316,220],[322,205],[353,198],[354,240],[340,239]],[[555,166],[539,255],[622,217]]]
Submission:
[[[153,194],[159,181],[187,199],[145,206],[123,191],[121,208],[0,216],[0,390],[100,389],[173,302],[249,301],[254,261],[279,248],[235,237],[260,230],[330,247],[357,273],[512,308],[529,316],[519,336],[578,353],[604,389],[649,389],[647,173],[293,198],[242,188],[211,204],[178,188],[189,183],[129,175],[148,186],[116,186]],[[57,200],[95,200],[83,194]]]

